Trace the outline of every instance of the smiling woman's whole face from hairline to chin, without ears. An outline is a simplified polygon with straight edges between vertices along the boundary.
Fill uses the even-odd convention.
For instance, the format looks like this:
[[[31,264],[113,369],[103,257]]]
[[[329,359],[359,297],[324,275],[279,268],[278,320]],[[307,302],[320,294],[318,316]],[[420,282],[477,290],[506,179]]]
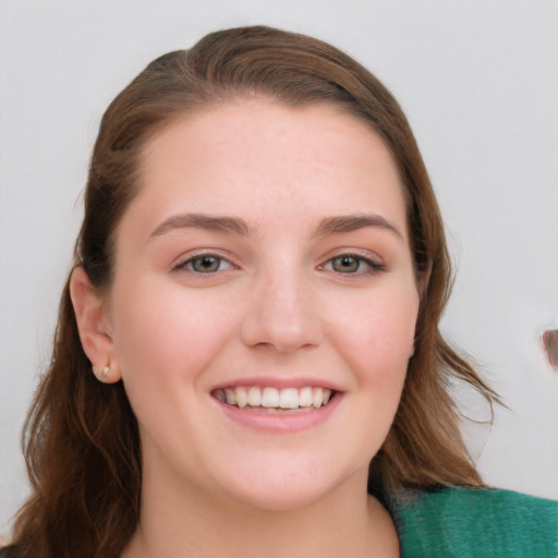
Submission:
[[[418,307],[379,137],[335,107],[239,100],[160,132],[142,177],[104,324],[144,483],[263,509],[364,489]]]

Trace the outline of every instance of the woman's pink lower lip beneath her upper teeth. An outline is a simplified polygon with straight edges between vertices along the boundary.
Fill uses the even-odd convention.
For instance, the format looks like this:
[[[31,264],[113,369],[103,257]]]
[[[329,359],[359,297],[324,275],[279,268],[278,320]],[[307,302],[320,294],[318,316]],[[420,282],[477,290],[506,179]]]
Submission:
[[[327,405],[296,412],[253,411],[215,399],[223,414],[241,426],[266,433],[296,433],[313,428],[329,418],[341,401],[342,395],[337,392]]]

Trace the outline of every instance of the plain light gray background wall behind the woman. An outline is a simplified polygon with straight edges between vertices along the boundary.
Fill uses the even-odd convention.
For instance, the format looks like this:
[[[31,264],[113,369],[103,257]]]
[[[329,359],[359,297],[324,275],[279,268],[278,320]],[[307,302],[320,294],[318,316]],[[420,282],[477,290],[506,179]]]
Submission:
[[[444,320],[510,410],[460,392],[488,483],[558,498],[558,2],[1,1],[0,532],[26,494],[45,368],[102,110],[153,58],[265,23],[351,52],[407,110],[459,268]]]

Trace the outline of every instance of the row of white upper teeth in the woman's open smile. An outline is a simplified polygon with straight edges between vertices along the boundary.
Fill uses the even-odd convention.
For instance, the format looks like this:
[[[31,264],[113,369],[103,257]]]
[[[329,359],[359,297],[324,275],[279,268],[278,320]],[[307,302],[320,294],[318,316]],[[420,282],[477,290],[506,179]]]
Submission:
[[[234,389],[218,389],[214,395],[220,401],[240,409],[246,405],[265,409],[319,409],[331,399],[330,389],[314,387],[277,389],[242,386]]]

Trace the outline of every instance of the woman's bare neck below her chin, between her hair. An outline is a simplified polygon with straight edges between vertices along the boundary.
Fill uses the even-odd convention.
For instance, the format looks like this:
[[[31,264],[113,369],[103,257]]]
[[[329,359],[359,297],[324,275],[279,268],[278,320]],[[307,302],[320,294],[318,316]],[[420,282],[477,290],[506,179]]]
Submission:
[[[145,482],[138,529],[122,558],[396,557],[391,518],[354,478],[298,509],[265,510]]]

